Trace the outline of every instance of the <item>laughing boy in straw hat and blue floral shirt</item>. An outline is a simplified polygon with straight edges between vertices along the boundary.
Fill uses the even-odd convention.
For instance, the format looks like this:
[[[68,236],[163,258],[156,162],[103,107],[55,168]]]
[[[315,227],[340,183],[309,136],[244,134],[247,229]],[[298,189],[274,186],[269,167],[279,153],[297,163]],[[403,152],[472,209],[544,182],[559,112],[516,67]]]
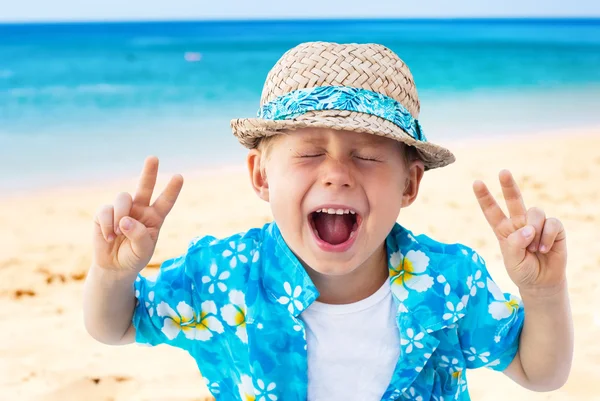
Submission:
[[[527,210],[508,172],[510,217],[474,184],[522,302],[470,248],[397,224],[424,172],[454,161],[418,113],[410,71],[383,46],[288,51],[258,118],[232,122],[274,222],[194,240],[142,277],[183,184],[173,177],[150,205],[149,158],[135,197],[96,216],[89,333],[187,350],[218,400],[468,400],[465,370],[482,366],[532,390],[562,386],[573,347],[562,224]]]

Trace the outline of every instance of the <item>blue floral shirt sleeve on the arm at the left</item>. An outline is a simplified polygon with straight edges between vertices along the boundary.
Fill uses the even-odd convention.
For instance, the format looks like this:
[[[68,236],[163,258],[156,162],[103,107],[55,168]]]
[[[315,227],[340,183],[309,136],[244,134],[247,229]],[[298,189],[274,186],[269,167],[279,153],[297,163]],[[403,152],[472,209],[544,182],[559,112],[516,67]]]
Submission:
[[[182,255],[165,261],[154,277],[139,274],[136,278],[136,343],[186,348],[185,332],[193,326],[196,310],[186,265],[186,255]]]

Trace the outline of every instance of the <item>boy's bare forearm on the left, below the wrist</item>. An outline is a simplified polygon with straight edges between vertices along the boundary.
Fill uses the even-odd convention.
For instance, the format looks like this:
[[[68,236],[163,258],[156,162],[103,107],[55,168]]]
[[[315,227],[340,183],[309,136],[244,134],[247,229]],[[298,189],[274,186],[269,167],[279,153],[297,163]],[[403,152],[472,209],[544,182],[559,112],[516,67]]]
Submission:
[[[86,330],[96,340],[111,345],[131,342],[136,276],[97,266],[90,268],[84,284],[83,313]]]

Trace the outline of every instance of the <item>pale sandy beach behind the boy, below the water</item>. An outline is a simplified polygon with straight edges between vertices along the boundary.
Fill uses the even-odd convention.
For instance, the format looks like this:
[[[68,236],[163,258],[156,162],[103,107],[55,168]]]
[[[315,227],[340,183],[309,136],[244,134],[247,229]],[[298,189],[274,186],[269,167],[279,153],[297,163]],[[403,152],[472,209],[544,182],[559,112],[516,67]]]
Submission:
[[[510,169],[526,205],[543,208],[566,227],[576,329],[574,365],[564,388],[532,393],[502,374],[476,370],[468,372],[472,399],[600,400],[600,128],[470,141],[452,149],[457,162],[426,173],[416,204],[402,211],[399,222],[415,233],[475,248],[502,289],[515,291],[471,190],[473,180],[482,179],[500,196],[498,172]],[[211,174],[182,172],[186,182],[162,229],[153,266],[182,253],[194,236],[226,236],[270,221],[268,205],[251,190],[240,162],[239,168]],[[167,178],[161,176],[158,188]],[[166,346],[105,346],[83,327],[92,216],[118,192],[133,191],[136,179],[134,173],[110,183],[0,198],[0,400],[212,399],[186,353]]]

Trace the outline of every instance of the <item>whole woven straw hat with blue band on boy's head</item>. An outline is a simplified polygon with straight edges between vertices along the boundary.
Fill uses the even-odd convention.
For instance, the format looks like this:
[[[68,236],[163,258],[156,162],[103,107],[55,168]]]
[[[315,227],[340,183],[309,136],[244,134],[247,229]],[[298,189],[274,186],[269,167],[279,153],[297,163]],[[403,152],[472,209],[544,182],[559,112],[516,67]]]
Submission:
[[[257,118],[231,121],[249,149],[283,130],[321,127],[365,132],[417,149],[426,169],[454,162],[446,148],[427,141],[418,116],[412,74],[391,50],[377,44],[302,43],[269,72]]]

